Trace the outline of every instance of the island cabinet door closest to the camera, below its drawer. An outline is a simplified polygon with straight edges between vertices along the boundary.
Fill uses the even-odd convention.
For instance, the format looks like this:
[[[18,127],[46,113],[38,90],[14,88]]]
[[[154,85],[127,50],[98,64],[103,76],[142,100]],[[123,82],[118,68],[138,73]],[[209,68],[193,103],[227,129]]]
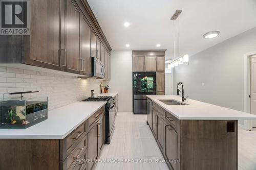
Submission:
[[[168,160],[177,160],[177,132],[172,126],[165,124],[165,156]],[[177,163],[171,163],[174,170],[177,169]]]

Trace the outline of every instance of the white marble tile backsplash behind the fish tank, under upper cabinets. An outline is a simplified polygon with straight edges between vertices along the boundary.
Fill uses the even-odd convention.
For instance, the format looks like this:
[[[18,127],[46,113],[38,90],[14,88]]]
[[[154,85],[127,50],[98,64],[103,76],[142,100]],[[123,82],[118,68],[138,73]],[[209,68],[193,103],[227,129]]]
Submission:
[[[92,89],[95,93],[100,93],[100,83],[100,80],[77,79],[75,76],[0,66],[1,99],[4,93],[39,91],[24,96],[48,96],[49,110],[86,99],[91,95]],[[5,95],[5,98],[6,96],[8,97]]]

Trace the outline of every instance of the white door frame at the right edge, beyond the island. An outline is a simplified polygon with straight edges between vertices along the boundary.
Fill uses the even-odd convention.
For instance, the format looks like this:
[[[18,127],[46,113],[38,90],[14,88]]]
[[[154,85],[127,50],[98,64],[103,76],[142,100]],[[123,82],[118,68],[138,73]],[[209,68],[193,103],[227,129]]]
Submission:
[[[255,52],[244,54],[244,112],[250,113],[250,56],[256,55]],[[252,130],[251,121],[244,120],[244,129]]]

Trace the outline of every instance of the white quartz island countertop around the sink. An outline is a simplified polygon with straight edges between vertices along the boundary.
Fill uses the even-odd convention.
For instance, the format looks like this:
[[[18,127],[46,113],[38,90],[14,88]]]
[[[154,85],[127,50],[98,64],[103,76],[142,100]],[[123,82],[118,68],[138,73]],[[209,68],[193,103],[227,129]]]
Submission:
[[[239,120],[239,119],[256,119],[256,115],[245,113],[238,110],[228,109],[196,100],[187,99],[188,105],[166,105],[159,99],[174,99],[181,102],[181,96],[177,95],[147,95],[147,98],[157,103],[163,109],[178,119],[198,119],[198,120]]]

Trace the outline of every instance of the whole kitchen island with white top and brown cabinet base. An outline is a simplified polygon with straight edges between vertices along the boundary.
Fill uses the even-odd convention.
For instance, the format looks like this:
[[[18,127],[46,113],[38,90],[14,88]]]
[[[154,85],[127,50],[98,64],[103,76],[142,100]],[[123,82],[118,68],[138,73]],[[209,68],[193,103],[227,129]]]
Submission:
[[[255,118],[177,95],[147,95],[147,124],[170,169],[238,169],[238,120]]]

